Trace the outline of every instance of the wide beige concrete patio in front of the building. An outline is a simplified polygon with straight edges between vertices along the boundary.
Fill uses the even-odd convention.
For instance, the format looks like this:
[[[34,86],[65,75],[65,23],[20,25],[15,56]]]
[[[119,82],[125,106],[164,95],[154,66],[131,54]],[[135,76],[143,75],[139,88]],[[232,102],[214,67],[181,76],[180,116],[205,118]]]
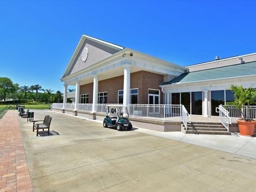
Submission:
[[[246,145],[253,145],[254,138],[187,137],[181,132],[143,129],[118,132],[70,115],[34,111],[35,119],[51,115],[51,130],[60,134],[36,137],[32,123],[19,118],[34,191],[254,191],[256,188],[256,159],[235,152],[239,142],[251,150]],[[219,137],[214,141],[219,143],[217,149],[221,148],[220,140],[225,140],[222,146],[232,141],[231,153],[220,151],[228,151],[229,147],[215,150],[198,146],[207,144],[213,148],[213,137]],[[233,137],[241,141],[236,143]],[[203,142],[199,143],[200,140]]]

